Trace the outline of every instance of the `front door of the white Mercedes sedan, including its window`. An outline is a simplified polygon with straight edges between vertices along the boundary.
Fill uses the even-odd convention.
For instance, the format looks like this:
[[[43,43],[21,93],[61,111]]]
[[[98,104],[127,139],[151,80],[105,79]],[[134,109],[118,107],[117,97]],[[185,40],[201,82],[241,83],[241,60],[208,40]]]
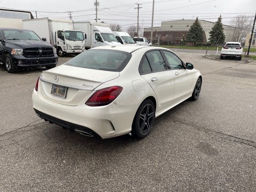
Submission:
[[[174,53],[162,50],[168,65],[174,75],[175,90],[174,104],[190,95],[192,84],[191,70],[187,70],[184,63]]]

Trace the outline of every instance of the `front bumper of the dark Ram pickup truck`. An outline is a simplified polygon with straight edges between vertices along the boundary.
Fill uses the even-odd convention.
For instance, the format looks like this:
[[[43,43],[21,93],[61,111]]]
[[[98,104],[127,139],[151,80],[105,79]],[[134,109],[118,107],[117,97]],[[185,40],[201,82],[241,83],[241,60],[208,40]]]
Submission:
[[[12,55],[12,62],[17,67],[51,66],[58,63],[58,56],[54,54],[52,57],[28,58],[23,55]]]

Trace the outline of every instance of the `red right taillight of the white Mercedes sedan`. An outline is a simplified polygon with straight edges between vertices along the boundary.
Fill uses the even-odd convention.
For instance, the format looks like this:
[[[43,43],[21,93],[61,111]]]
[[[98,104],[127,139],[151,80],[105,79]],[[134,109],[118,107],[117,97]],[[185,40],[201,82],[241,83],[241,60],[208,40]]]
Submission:
[[[112,86],[96,91],[87,101],[88,106],[104,106],[113,102],[122,92],[123,88],[120,86]]]

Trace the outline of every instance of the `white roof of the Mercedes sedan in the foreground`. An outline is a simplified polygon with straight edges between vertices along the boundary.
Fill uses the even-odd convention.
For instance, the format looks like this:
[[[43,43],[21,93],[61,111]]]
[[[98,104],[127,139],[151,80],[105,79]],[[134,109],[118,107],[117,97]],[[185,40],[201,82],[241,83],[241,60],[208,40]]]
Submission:
[[[120,50],[125,52],[135,52],[136,50],[153,50],[153,49],[165,49],[170,51],[169,49],[162,48],[162,47],[154,47],[154,46],[138,46],[138,45],[105,45],[105,46],[98,46],[92,49],[108,49],[108,50]]]

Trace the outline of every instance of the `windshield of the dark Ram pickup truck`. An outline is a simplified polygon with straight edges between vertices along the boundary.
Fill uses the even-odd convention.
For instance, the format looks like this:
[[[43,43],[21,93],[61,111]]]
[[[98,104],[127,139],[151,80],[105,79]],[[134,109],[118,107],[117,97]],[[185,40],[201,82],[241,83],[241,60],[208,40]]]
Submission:
[[[41,40],[33,31],[27,31],[27,30],[3,30],[4,37],[7,40],[25,40],[25,39],[31,39],[31,40]]]

